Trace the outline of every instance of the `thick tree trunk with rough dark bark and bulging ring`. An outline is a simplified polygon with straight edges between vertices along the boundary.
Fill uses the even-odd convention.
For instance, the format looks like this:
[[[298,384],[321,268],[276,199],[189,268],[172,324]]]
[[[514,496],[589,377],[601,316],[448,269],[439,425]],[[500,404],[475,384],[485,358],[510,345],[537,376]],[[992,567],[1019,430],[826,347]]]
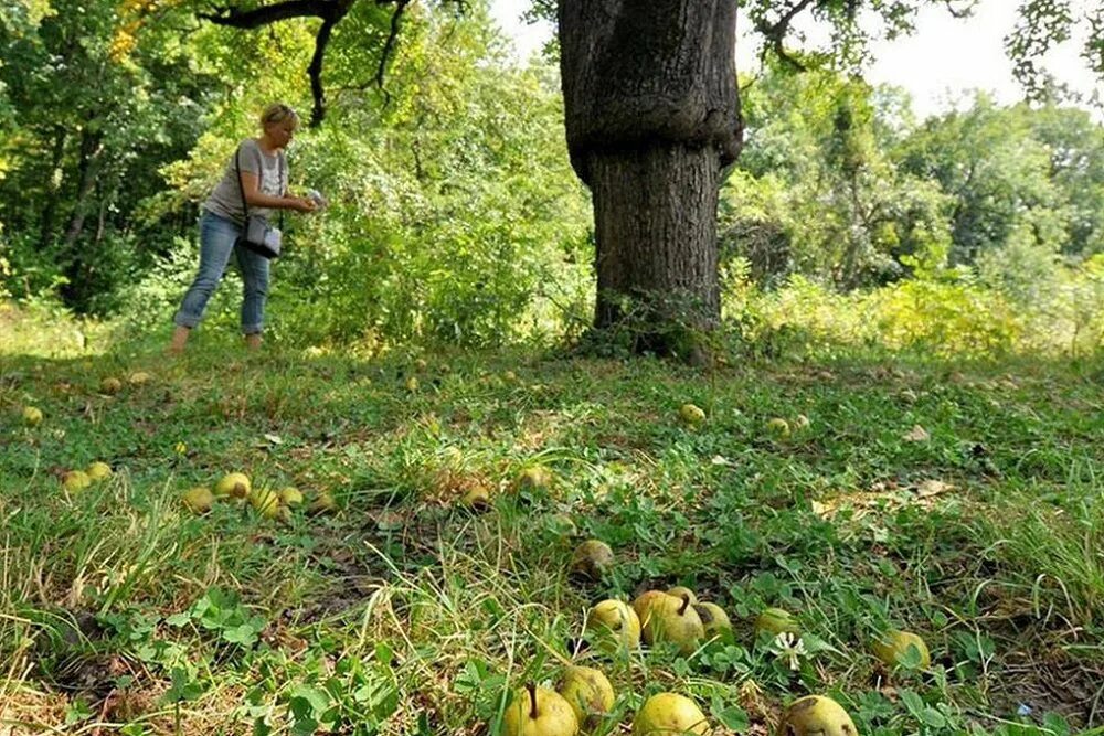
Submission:
[[[718,189],[741,145],[736,3],[558,11],[567,147],[594,201],[595,327],[631,318],[637,349],[682,352],[720,321]]]

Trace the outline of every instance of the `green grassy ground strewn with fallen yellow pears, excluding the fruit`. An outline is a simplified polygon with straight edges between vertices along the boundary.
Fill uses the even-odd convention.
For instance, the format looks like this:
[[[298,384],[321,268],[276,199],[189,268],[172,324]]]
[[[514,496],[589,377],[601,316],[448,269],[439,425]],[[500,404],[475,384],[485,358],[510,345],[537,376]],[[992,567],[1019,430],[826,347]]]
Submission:
[[[719,734],[773,733],[806,693],[862,734],[1104,733],[1100,365],[369,361],[202,334],[167,360],[36,350],[12,323],[0,734],[497,733],[512,687],[556,680],[590,605],[677,584],[734,636],[580,653],[617,691],[595,733],[627,734],[661,690]],[[114,474],[63,488],[94,460]],[[518,490],[533,465],[551,486]],[[340,510],[183,508],[231,471]],[[476,487],[486,513],[457,503]],[[616,555],[599,583],[569,575],[588,537]],[[793,662],[752,634],[766,606],[800,623]],[[924,637],[928,671],[877,662],[887,627]]]

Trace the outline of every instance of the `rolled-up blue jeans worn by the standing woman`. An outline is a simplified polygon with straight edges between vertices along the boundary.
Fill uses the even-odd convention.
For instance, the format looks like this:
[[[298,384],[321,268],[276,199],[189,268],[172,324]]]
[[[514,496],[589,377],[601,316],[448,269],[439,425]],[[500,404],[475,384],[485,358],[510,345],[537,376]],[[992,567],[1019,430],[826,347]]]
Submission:
[[[203,212],[200,217],[200,270],[188,288],[173,322],[193,328],[203,319],[206,302],[219,286],[230,254],[237,258],[237,268],[245,285],[242,298],[242,334],[258,334],[265,323],[265,301],[268,299],[268,259],[235,245],[242,227],[233,220]]]

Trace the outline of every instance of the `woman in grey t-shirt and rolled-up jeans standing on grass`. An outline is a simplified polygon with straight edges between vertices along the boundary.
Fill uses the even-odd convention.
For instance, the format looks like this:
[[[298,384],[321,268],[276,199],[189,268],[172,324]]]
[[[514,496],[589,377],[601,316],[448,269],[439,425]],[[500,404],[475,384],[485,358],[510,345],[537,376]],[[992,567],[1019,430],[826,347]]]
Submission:
[[[237,259],[245,285],[242,299],[242,334],[251,349],[261,346],[265,301],[268,297],[268,259],[236,245],[245,226],[245,207],[250,215],[270,217],[274,210],[314,212],[314,201],[288,196],[287,158],[284,149],[299,127],[299,116],[287,105],[275,103],[261,115],[262,135],[242,141],[226,164],[219,185],[203,203],[200,217],[200,269],[195,275],[173,322],[177,329],[169,352],[183,352],[188,335],[199,324],[208,300],[222,279],[231,253]],[[236,160],[235,160],[236,159]],[[241,184],[237,170],[241,168]]]

